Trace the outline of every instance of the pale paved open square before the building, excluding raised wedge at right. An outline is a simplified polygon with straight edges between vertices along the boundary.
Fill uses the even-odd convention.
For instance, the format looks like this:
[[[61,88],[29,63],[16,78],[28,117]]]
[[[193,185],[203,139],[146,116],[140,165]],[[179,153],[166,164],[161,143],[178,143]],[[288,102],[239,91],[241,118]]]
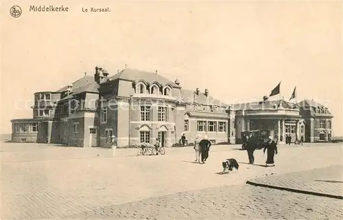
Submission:
[[[280,146],[276,166],[268,168],[262,166],[262,151],[255,152],[251,166],[246,151],[238,148],[213,146],[206,164],[195,164],[191,147],[140,157],[137,149],[117,149],[113,158],[110,149],[3,143],[1,217],[342,219],[342,200],[245,184],[256,177],[342,165],[342,146]],[[220,175],[222,160],[229,157],[237,159],[239,171]]]

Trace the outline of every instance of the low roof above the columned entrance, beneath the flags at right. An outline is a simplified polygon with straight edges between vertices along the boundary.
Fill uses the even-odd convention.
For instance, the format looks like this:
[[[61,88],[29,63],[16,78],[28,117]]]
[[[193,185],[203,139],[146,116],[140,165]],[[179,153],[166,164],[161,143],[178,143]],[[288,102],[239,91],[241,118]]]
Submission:
[[[275,106],[281,106],[285,109],[292,109],[288,102],[285,100],[266,100],[261,102],[247,102],[247,103],[237,103],[230,104],[230,107],[233,110],[242,110],[242,109],[273,109]]]

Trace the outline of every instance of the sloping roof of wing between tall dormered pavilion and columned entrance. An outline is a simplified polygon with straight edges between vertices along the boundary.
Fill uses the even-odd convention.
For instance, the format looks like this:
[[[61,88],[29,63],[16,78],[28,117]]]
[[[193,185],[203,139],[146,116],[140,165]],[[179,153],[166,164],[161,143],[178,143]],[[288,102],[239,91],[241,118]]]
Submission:
[[[212,96],[206,96],[200,91],[198,94],[196,94],[196,91],[189,89],[181,89],[181,96],[184,102],[193,102],[195,98],[194,102],[196,102],[196,104],[216,105],[220,107],[227,106],[227,104],[225,104],[224,102],[221,102],[220,100],[217,100]]]

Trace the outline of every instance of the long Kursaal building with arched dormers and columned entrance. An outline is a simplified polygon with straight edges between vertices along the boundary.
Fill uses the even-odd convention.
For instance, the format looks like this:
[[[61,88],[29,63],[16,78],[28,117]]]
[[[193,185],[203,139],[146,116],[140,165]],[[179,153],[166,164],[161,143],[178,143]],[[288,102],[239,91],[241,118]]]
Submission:
[[[285,100],[225,104],[204,89],[187,90],[157,72],[122,69],[110,76],[95,67],[85,76],[57,91],[34,94],[33,118],[12,120],[12,141],[110,147],[180,142],[185,133],[193,142],[207,135],[213,144],[240,144],[241,131],[266,129],[275,140],[305,142],[331,140],[329,109],[313,100],[297,104]]]

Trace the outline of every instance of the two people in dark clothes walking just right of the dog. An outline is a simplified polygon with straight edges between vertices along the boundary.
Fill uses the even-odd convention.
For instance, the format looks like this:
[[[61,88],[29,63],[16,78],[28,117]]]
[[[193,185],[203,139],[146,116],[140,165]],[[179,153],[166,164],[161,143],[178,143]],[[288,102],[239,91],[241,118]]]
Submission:
[[[249,133],[246,137],[246,151],[248,152],[248,159],[249,164],[254,164],[255,157],[254,157],[254,151],[257,148],[257,140],[255,140],[255,137],[252,135],[252,133]],[[267,142],[264,143],[263,148],[263,154],[267,150],[267,160],[265,161],[265,166],[275,166],[274,164],[274,155],[278,153],[278,149],[276,146],[276,142],[274,142],[272,136],[268,137]]]

